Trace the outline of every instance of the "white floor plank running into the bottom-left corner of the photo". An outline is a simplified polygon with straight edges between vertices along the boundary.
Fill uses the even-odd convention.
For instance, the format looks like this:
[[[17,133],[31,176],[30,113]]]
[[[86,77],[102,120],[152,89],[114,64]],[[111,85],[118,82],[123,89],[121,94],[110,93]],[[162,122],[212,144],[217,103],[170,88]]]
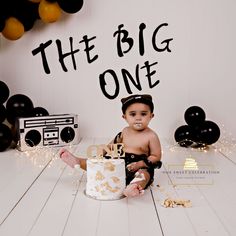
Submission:
[[[63,164],[64,165],[64,164]],[[27,235],[47,203],[63,169],[46,168],[1,225],[0,235]]]

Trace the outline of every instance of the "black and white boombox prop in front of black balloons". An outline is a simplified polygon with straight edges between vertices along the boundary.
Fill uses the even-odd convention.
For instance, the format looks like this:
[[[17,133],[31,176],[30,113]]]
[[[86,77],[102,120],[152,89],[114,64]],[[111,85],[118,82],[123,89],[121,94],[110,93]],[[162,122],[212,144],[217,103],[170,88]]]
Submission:
[[[17,126],[17,148],[20,151],[72,145],[80,141],[78,116],[75,114],[19,118]]]

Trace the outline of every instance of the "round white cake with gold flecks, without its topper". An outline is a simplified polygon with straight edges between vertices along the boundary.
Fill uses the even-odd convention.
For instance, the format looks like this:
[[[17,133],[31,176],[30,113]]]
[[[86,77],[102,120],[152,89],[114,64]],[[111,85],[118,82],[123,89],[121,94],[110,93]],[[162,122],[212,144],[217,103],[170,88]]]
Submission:
[[[86,194],[99,200],[115,200],[125,189],[123,159],[88,159]]]

